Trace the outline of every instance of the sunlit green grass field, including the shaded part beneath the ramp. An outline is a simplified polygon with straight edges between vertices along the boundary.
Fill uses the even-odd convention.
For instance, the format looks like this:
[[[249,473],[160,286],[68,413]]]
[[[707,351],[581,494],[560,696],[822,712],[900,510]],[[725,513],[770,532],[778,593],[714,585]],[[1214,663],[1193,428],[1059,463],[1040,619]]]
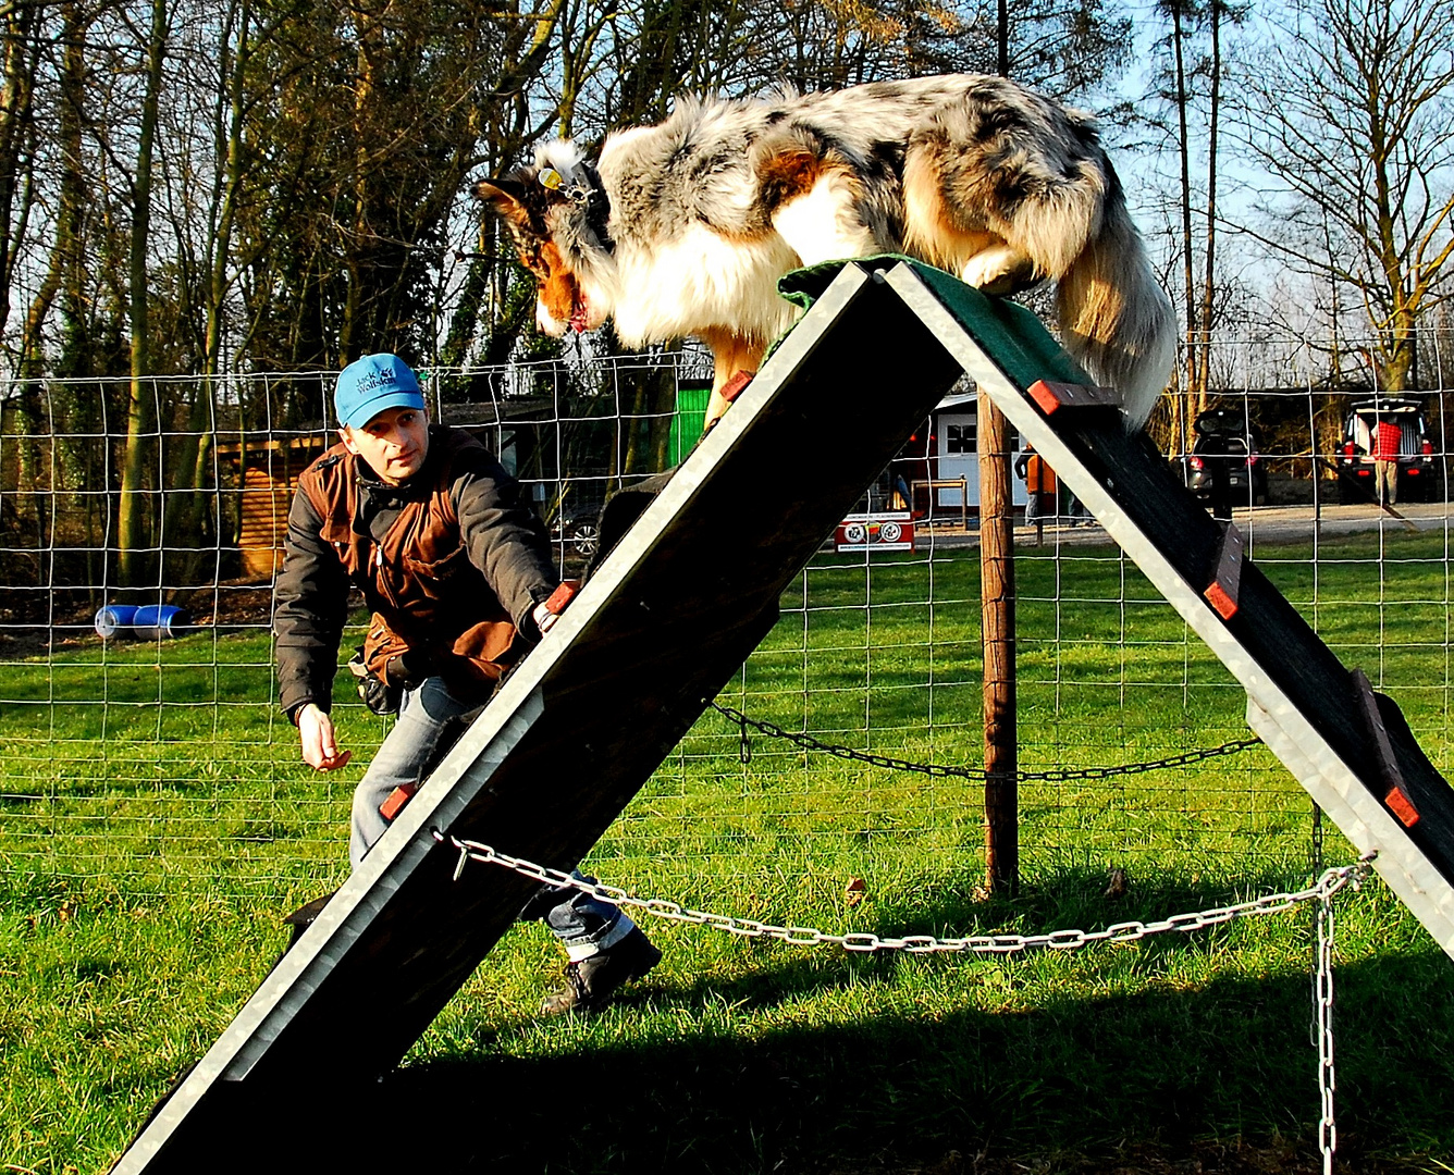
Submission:
[[[1246,734],[1240,688],[1134,569],[1104,547],[1050,556],[1018,563],[1022,768]],[[1448,774],[1442,537],[1255,556]],[[824,742],[976,765],[974,553],[843,564],[820,557],[785,593],[723,701]],[[340,710],[355,763],[314,775],[268,659],[266,633],[244,628],[4,666],[0,1171],[103,1171],[262,980],[281,916],[343,878],[349,795],[384,727]],[[758,734],[742,749],[710,711],[589,867],[769,922],[954,935],[1162,918],[1310,871],[1310,801],[1261,747],[1027,781],[1015,899],[980,891],[973,784]],[[1348,859],[1333,832],[1325,854]],[[1114,867],[1130,877],[1120,899]],[[855,877],[867,897],[851,906]],[[384,1082],[391,1105],[427,1112],[400,1114],[348,1165],[419,1169],[426,1126],[439,1171],[1317,1166],[1310,910],[999,960],[647,929],[666,957],[644,983],[595,1021],[542,1022],[557,948],[538,923],[515,928]],[[1375,880],[1339,902],[1338,964],[1348,1169],[1450,1171],[1454,966]]]

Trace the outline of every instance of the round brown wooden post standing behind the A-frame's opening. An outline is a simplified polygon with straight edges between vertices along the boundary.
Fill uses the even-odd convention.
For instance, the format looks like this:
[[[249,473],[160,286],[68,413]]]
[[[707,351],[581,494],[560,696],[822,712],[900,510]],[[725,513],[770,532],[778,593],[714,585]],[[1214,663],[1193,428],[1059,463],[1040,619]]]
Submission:
[[[984,646],[984,883],[1019,890],[1015,508],[1009,422],[979,394],[980,622]]]

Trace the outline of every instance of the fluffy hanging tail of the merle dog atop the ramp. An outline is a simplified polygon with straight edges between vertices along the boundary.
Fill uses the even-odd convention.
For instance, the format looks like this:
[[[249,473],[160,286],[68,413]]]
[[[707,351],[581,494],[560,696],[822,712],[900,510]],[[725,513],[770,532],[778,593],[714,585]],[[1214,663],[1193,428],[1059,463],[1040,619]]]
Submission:
[[[1140,428],[1176,362],[1176,311],[1109,179],[1101,231],[1061,276],[1056,302],[1066,350],[1121,394],[1128,425]]]

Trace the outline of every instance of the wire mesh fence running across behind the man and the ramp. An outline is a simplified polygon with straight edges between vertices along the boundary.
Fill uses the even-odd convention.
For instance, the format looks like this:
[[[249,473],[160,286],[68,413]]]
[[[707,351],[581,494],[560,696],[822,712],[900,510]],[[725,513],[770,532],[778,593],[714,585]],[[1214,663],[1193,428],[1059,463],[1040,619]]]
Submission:
[[[1447,769],[1442,380],[1374,397],[1293,364],[1268,387],[1237,378],[1239,364],[1262,369],[1249,355],[1220,349],[1221,390],[1168,401],[1153,422],[1168,460],[1210,509],[1233,513],[1249,556],[1403,705]],[[593,551],[606,494],[689,451],[710,372],[699,355],[667,353],[426,375],[435,419],[474,430],[529,487],[570,574]],[[0,859],[42,883],[135,891],[337,883],[352,788],[387,726],[340,681],[336,718],[355,759],[311,772],[276,707],[269,641],[291,487],[330,439],[324,382],[157,380],[140,435],[118,407],[128,391],[6,388]],[[1211,423],[1198,429],[1202,410]],[[1387,508],[1368,489],[1383,419],[1399,428]],[[867,487],[721,697],[759,726],[710,710],[596,848],[598,870],[689,875],[711,857],[791,886],[980,875],[974,781],[806,749],[760,726],[913,763],[981,761],[976,423],[973,397],[949,397]],[[806,492],[791,471],[763,476]],[[1304,873],[1312,804],[1262,747],[1066,778],[1246,736],[1240,686],[1072,510],[1061,492],[1016,540],[1022,870]]]

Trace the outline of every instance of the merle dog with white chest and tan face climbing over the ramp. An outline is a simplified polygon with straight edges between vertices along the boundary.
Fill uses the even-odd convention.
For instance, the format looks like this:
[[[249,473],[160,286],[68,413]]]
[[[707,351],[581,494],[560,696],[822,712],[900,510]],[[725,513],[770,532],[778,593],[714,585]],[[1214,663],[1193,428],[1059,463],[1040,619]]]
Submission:
[[[682,100],[666,122],[567,140],[475,185],[538,282],[548,334],[615,320],[627,346],[695,336],[721,391],[798,313],[798,266],[906,253],[987,294],[1057,282],[1061,340],[1138,426],[1176,323],[1083,112],[999,77],[878,81],[762,100]]]

